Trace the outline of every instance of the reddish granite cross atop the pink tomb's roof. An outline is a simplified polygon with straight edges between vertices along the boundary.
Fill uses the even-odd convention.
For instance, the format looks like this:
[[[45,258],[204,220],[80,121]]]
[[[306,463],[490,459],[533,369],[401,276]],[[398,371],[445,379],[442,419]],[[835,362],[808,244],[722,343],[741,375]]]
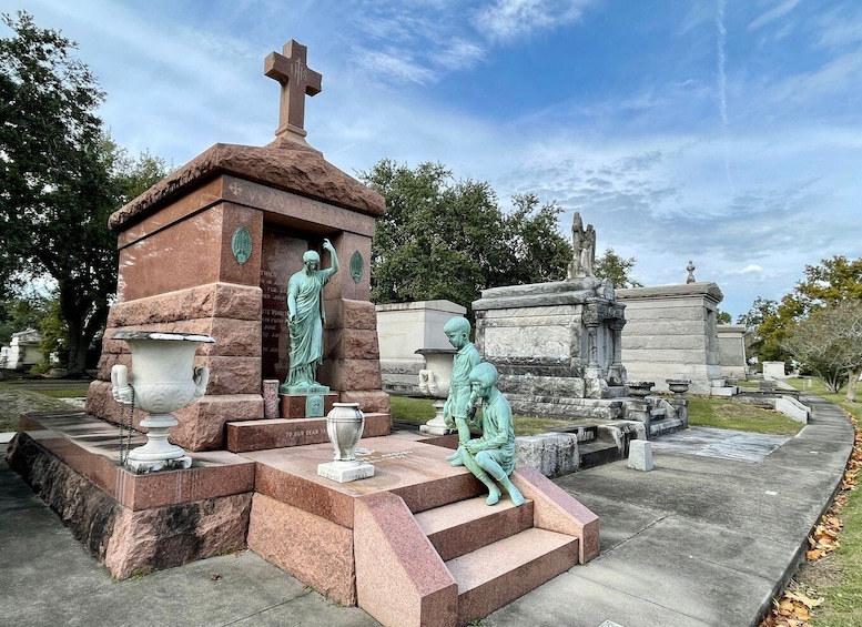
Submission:
[[[276,136],[287,133],[305,138],[305,95],[321,93],[321,74],[306,65],[308,48],[293,39],[284,44],[284,54],[271,52],[263,63],[263,73],[282,84]]]

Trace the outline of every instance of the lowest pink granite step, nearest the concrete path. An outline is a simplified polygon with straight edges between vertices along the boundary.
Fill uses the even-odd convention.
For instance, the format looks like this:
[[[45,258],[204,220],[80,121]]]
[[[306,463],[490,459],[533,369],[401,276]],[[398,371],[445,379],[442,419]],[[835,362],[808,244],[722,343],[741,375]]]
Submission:
[[[577,538],[536,528],[446,562],[458,584],[458,625],[484,618],[577,563]]]

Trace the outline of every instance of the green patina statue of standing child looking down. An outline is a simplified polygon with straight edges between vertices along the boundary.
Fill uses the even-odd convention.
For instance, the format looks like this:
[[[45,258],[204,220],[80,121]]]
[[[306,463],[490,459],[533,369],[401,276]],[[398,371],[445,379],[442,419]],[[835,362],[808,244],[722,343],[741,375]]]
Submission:
[[[470,405],[470,371],[481,361],[479,352],[470,342],[470,323],[466,317],[455,316],[443,327],[449,344],[456,348],[452,358],[452,377],[449,378],[449,395],[443,405],[443,419],[449,428],[458,429],[458,442],[470,438],[470,427],[467,424]],[[474,398],[475,403],[475,398]],[[446,457],[453,466],[463,466],[458,453]]]

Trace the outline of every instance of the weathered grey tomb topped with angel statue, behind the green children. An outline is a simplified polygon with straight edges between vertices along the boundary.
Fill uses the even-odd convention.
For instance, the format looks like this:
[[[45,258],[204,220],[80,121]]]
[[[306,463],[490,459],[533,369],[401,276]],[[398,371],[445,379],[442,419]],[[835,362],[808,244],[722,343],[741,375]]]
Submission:
[[[622,418],[625,305],[594,274],[596,231],[575,213],[568,279],[483,290],[476,346],[517,413]]]

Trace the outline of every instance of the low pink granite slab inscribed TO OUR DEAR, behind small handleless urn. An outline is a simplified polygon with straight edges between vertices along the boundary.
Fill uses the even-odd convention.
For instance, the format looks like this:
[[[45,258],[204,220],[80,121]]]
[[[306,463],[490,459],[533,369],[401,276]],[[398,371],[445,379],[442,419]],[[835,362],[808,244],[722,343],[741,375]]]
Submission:
[[[363,437],[377,437],[392,433],[392,416],[367,412]],[[275,418],[262,421],[242,421],[225,425],[225,447],[232,453],[285,448],[307,444],[326,443],[326,418]]]

